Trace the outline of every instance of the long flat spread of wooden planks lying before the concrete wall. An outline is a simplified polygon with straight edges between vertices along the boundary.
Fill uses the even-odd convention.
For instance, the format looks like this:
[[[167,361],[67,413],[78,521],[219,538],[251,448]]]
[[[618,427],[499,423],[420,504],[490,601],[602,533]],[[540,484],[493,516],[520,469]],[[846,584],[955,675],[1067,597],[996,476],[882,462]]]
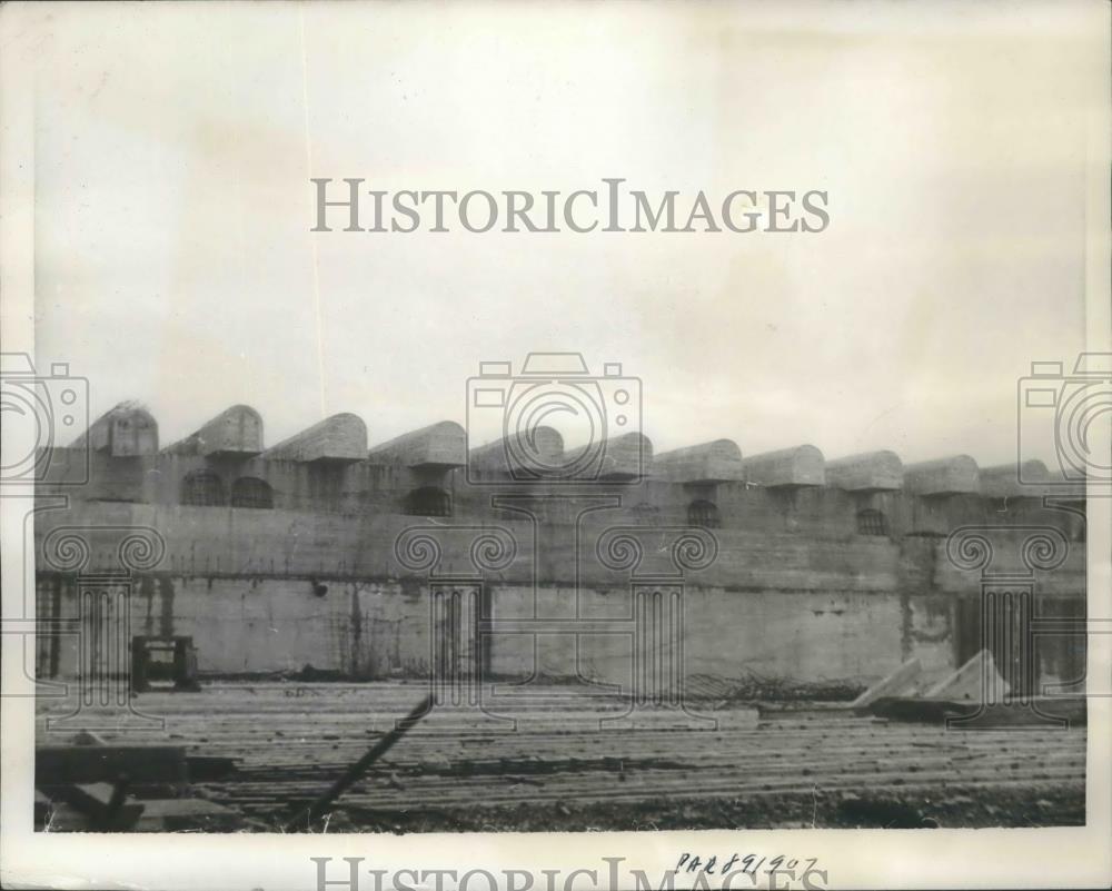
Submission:
[[[200,783],[198,794],[272,826],[287,803],[318,795],[394,726],[415,692],[421,686],[227,684],[210,687],[203,702],[150,693],[140,704],[166,717],[166,730],[152,737],[190,755],[236,760],[235,773]],[[815,789],[901,794],[921,789],[933,795],[959,784],[984,790],[1084,785],[1085,733],[1078,726],[1016,733],[1001,725],[959,733],[943,723],[885,722],[843,710],[778,713],[729,729],[743,715],[727,705],[711,712],[723,720],[717,731],[613,733],[584,729],[583,722],[620,713],[623,699],[574,701],[562,693],[554,689],[519,709],[523,719],[539,715],[539,725],[523,720],[518,732],[493,733],[476,722],[453,735],[415,733],[332,806],[461,812],[560,801],[806,796]],[[949,707],[955,706],[975,707],[969,702]],[[61,707],[44,701],[39,719]],[[109,745],[127,739],[111,732],[103,736]]]

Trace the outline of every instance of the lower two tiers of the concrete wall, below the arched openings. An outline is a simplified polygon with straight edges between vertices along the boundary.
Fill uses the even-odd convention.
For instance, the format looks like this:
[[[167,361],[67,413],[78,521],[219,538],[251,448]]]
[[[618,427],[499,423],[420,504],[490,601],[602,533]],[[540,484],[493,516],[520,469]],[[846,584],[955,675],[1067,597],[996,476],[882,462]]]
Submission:
[[[770,504],[761,503],[762,509]],[[565,514],[575,511],[565,506]],[[467,576],[476,575],[471,543],[498,532],[517,550],[483,573],[488,594],[476,621],[486,623],[488,669],[518,680],[579,674],[627,685],[637,633],[633,586],[668,591],[667,581],[645,578],[675,570],[674,534],[663,524],[635,527],[645,552],[636,568],[600,560],[594,543],[636,518],[622,509],[587,514],[578,527],[567,516],[537,529],[519,519],[497,529],[427,523],[417,534],[438,542],[441,560],[414,570],[399,562],[398,546],[423,524],[399,514],[78,503],[39,515],[39,611],[42,617],[77,617],[81,580],[120,572],[121,538],[157,531],[163,548],[157,565],[131,576],[130,635],[192,636],[206,673],[311,665],[358,679],[421,677],[439,621],[431,614],[430,582],[467,588]],[[67,567],[58,550],[75,532],[88,556],[80,567]],[[534,533],[545,545],[539,551]],[[586,543],[578,551],[577,533]],[[1006,538],[999,557],[1014,567],[1020,543]],[[955,566],[942,539],[836,541],[725,528],[715,539],[716,557],[682,580],[687,673],[867,682],[912,656],[941,674],[975,645],[976,635],[970,644],[970,633],[963,636],[956,625],[977,615],[980,575]],[[1083,615],[1084,578],[1084,547],[1073,544],[1065,562],[1036,573],[1034,583],[1044,601],[1069,604],[1053,608],[1075,615],[1082,604]],[[72,641],[44,644],[40,671],[66,675],[75,659]],[[1044,659],[1056,677],[1078,662],[1062,642],[1044,647]]]

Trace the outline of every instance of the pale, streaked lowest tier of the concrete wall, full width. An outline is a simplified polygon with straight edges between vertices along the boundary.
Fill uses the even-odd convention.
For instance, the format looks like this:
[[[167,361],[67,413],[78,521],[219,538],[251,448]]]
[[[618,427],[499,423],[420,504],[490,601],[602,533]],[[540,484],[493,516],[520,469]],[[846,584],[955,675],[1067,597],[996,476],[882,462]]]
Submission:
[[[77,620],[78,587],[72,576],[40,575],[40,616]],[[138,576],[131,592],[129,636],[191,636],[202,673],[307,665],[354,679],[429,672],[437,620],[425,583],[168,574]],[[483,647],[494,675],[578,674],[629,685],[637,632],[628,587],[579,588],[577,597],[569,587],[500,585],[488,596]],[[1083,603],[1078,593],[1049,596],[1074,607],[1066,614]],[[970,655],[960,653],[955,633],[959,594],[685,587],[683,597],[688,675],[868,682],[911,657],[929,675],[942,675]],[[1040,643],[1049,680],[1078,676],[1083,663],[1068,643]],[[40,645],[43,675],[71,676],[76,660],[73,637]]]

